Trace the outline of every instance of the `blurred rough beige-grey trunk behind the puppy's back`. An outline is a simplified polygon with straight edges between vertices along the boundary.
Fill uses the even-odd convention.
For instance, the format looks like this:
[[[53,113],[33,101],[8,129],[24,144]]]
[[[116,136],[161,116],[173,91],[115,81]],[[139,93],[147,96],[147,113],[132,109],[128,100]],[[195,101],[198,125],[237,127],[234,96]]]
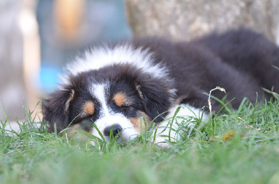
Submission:
[[[245,26],[278,40],[278,0],[126,0],[126,15],[136,37],[189,40]]]

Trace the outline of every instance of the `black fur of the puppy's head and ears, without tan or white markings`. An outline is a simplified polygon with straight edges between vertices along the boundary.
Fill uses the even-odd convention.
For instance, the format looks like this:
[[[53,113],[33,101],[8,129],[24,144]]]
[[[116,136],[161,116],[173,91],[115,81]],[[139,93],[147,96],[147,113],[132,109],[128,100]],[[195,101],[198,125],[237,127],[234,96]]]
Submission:
[[[98,105],[98,101],[94,101],[86,87],[88,84],[98,84],[102,81],[110,82],[108,91],[111,93],[116,91],[128,93],[130,100],[133,101],[132,110],[125,112],[123,108],[119,109],[115,105],[110,105],[114,112],[121,112],[127,117],[137,116],[136,112],[140,110],[159,123],[163,121],[163,117],[159,115],[167,112],[172,105],[170,99],[174,96],[167,93],[172,84],[165,84],[162,79],[146,75],[133,66],[107,66],[100,70],[82,72],[77,77],[70,77],[70,85],[62,86],[62,89],[54,91],[49,98],[43,100],[44,121],[50,125],[50,131],[54,131],[54,126],[60,132],[70,123],[74,125],[82,122],[84,118],[79,116],[82,103],[86,100],[93,100]],[[75,91],[74,98],[70,100],[70,105],[66,108],[71,91]],[[95,121],[98,118],[98,111],[99,109],[96,109],[96,113],[88,117],[90,119],[85,117],[85,120]]]

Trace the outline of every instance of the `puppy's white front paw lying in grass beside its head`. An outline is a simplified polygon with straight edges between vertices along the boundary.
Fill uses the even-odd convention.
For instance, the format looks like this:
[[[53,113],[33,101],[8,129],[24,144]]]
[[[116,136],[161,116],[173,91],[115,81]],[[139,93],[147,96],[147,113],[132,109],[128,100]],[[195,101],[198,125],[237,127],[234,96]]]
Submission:
[[[172,118],[178,107],[181,107],[181,109],[176,114],[176,117],[174,117],[174,121],[172,123],[172,129],[171,129],[170,127],[171,127]],[[186,133],[185,129],[181,129],[177,132],[181,123],[185,121],[185,118],[193,118],[193,117],[200,118],[200,116],[202,116],[202,112],[200,112],[200,109],[197,109],[190,105],[181,104],[172,107],[169,110],[169,114],[167,114],[167,116],[165,117],[166,120],[160,123],[156,128],[157,132],[156,132],[156,139],[154,143],[158,144],[163,148],[169,148],[169,144],[165,142],[166,139],[169,140],[170,137],[171,141],[174,142],[179,141],[181,139],[181,134]],[[208,121],[208,120],[209,120],[209,114],[204,113],[202,117],[202,121]],[[188,124],[184,125],[184,127],[185,126],[188,126],[188,128],[192,129],[195,127],[195,122],[189,121]],[[156,130],[153,131],[153,136]]]

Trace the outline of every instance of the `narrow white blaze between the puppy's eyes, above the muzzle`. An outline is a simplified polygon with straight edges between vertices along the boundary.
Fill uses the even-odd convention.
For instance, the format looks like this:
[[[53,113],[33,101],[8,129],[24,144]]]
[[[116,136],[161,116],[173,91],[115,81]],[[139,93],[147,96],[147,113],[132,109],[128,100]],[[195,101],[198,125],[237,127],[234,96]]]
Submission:
[[[106,86],[107,86],[106,84],[96,84],[96,85],[92,86],[93,90],[92,89],[90,90],[93,92],[93,93],[91,92],[92,95],[95,96],[99,100],[99,102],[102,106],[101,113],[103,116],[110,115],[110,111],[107,107],[107,102],[106,102],[107,99],[105,98],[105,87]]]

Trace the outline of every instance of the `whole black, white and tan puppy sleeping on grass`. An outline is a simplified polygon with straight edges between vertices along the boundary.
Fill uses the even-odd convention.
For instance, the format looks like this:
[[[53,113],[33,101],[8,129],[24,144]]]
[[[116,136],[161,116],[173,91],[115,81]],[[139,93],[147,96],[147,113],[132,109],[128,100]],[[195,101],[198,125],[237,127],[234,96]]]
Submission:
[[[237,108],[243,98],[251,102],[270,98],[262,87],[278,92],[279,49],[264,36],[239,29],[212,33],[191,42],[172,43],[158,38],[131,40],[93,47],[66,67],[62,83],[43,99],[43,121],[60,132],[69,125],[96,137],[129,141],[155,122],[156,143],[167,147],[162,135],[180,139],[175,131],[184,118],[201,118],[208,95],[216,86],[227,91]],[[223,98],[224,93],[212,95]],[[213,111],[220,105],[212,101]],[[167,119],[176,116],[172,130]],[[204,109],[203,120],[208,117]],[[144,118],[144,119],[143,119]],[[192,126],[190,123],[188,126]],[[98,130],[96,129],[98,128]],[[170,132],[169,132],[170,131]],[[68,131],[72,137],[75,131]],[[112,134],[112,135],[110,135]]]

